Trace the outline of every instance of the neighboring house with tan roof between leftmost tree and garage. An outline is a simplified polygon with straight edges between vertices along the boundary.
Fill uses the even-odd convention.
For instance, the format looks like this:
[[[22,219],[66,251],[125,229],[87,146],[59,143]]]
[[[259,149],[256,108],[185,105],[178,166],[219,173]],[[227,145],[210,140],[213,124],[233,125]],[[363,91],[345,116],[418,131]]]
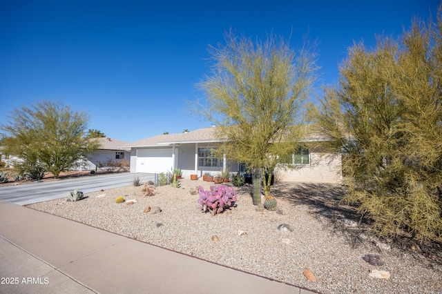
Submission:
[[[93,140],[99,142],[99,148],[86,156],[86,164],[81,167],[81,170],[95,170],[96,166],[101,168],[107,166],[108,163],[130,160],[131,148],[120,147],[127,145],[128,142],[109,137],[94,138]]]

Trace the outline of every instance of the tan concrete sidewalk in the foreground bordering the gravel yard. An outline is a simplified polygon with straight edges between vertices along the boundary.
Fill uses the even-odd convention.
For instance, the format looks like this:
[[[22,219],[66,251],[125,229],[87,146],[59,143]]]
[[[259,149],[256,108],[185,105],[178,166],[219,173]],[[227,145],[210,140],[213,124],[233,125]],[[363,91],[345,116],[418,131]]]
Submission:
[[[314,293],[0,201],[0,293]]]

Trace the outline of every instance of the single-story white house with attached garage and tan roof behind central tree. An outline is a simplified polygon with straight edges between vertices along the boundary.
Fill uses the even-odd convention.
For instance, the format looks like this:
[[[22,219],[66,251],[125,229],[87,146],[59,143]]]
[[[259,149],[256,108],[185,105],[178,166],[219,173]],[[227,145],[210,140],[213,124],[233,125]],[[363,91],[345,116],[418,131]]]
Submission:
[[[180,168],[183,175],[204,173],[216,175],[227,169],[236,173],[241,164],[213,156],[213,148],[221,143],[213,135],[217,128],[200,128],[187,133],[157,135],[122,145],[131,149],[131,173],[166,173]],[[306,138],[305,142],[325,141],[320,136]],[[342,180],[341,157],[327,157],[320,148],[299,148],[287,163],[295,164],[296,169],[275,170],[281,182],[340,182]]]

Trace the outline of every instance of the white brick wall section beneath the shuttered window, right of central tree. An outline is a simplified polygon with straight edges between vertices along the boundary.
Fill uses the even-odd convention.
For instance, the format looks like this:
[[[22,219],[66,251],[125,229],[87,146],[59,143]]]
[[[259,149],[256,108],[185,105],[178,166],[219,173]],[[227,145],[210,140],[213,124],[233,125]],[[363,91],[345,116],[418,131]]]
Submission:
[[[310,153],[310,164],[296,169],[275,169],[275,179],[280,182],[337,183],[342,178],[340,155]]]

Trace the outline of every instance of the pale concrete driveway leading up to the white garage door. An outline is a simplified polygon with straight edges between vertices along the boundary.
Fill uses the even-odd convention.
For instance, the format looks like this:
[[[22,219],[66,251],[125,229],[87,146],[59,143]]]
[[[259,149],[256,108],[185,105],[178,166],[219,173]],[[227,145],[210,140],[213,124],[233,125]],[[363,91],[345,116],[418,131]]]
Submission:
[[[90,193],[100,189],[130,186],[134,177],[139,177],[142,183],[146,183],[153,180],[155,175],[152,173],[117,173],[5,186],[0,187],[0,199],[27,205],[66,197],[66,192],[73,191],[75,188],[79,188],[83,193]]]

